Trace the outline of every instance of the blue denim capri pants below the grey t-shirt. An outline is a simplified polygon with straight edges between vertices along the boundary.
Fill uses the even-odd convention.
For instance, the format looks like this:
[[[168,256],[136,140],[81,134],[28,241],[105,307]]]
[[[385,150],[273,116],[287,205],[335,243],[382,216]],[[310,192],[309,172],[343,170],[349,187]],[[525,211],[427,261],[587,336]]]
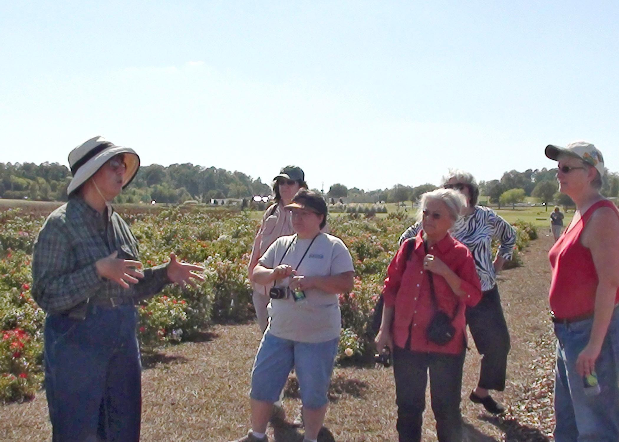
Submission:
[[[327,404],[327,391],[337,355],[339,338],[325,342],[298,342],[273,336],[262,337],[251,371],[251,399],[275,402],[292,368],[297,372],[303,407],[316,410]]]

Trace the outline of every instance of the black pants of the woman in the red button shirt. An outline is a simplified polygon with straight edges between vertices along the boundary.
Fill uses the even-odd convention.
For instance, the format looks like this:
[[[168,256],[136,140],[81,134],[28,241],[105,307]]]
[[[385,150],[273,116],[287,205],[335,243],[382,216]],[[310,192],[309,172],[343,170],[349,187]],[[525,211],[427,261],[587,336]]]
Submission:
[[[459,355],[411,352],[396,347],[393,374],[396,378],[397,433],[400,442],[420,442],[425,391],[430,369],[430,396],[439,442],[462,441],[460,390],[463,351]]]

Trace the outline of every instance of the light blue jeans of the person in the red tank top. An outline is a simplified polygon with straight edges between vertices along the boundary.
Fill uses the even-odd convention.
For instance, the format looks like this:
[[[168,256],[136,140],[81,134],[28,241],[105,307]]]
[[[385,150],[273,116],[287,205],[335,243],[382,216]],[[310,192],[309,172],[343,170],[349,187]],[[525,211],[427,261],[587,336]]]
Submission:
[[[555,324],[555,442],[619,441],[619,310],[610,321],[595,372],[601,392],[585,396],[576,359],[589,342],[593,319]]]

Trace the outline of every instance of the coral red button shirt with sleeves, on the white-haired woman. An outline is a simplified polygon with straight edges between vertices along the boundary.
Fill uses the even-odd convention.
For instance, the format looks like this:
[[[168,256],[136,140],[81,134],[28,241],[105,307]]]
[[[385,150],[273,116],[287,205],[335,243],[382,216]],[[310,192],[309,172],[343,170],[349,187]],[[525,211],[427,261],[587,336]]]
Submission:
[[[405,348],[410,335],[409,349],[415,352],[458,354],[466,345],[466,306],[476,305],[482,298],[482,289],[475,270],[475,261],[469,249],[461,242],[454,240],[449,234],[435,245],[428,248],[428,253],[441,259],[458,275],[461,289],[465,294],[459,298],[451,290],[447,281],[440,275],[433,274],[434,287],[438,305],[450,317],[458,308],[457,316],[452,322],[456,328],[456,336],[446,345],[438,345],[426,339],[426,328],[435,313],[430,295],[428,272],[423,270],[423,231],[415,238],[404,241],[396,256],[387,267],[387,278],[384,282],[383,297],[385,306],[394,306],[394,320],[391,334],[394,344]],[[413,241],[414,244],[410,244]],[[412,246],[408,261],[407,247]]]

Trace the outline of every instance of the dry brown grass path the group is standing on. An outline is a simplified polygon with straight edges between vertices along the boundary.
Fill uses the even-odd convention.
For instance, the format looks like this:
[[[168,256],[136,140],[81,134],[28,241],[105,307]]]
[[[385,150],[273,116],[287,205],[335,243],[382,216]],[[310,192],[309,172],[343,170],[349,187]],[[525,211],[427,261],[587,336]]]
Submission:
[[[469,441],[545,441],[552,431],[553,335],[548,320],[549,237],[532,241],[525,266],[505,272],[500,290],[512,336],[508,387],[498,399],[509,405],[504,417],[482,412],[467,399],[477,381],[478,354],[467,354],[462,413]],[[144,441],[228,441],[249,426],[249,371],[259,342],[254,324],[216,326],[202,342],[145,355],[142,376]],[[472,341],[471,341],[472,345]],[[288,383],[285,409],[294,415],[300,401],[295,380]],[[293,416],[292,416],[293,417]],[[394,383],[390,369],[336,368],[326,425],[340,441],[397,440]],[[271,435],[272,429],[270,429]],[[278,430],[275,440],[294,440]],[[0,440],[50,440],[45,394],[27,404],[0,407]],[[430,398],[426,399],[424,440],[436,440]]]

